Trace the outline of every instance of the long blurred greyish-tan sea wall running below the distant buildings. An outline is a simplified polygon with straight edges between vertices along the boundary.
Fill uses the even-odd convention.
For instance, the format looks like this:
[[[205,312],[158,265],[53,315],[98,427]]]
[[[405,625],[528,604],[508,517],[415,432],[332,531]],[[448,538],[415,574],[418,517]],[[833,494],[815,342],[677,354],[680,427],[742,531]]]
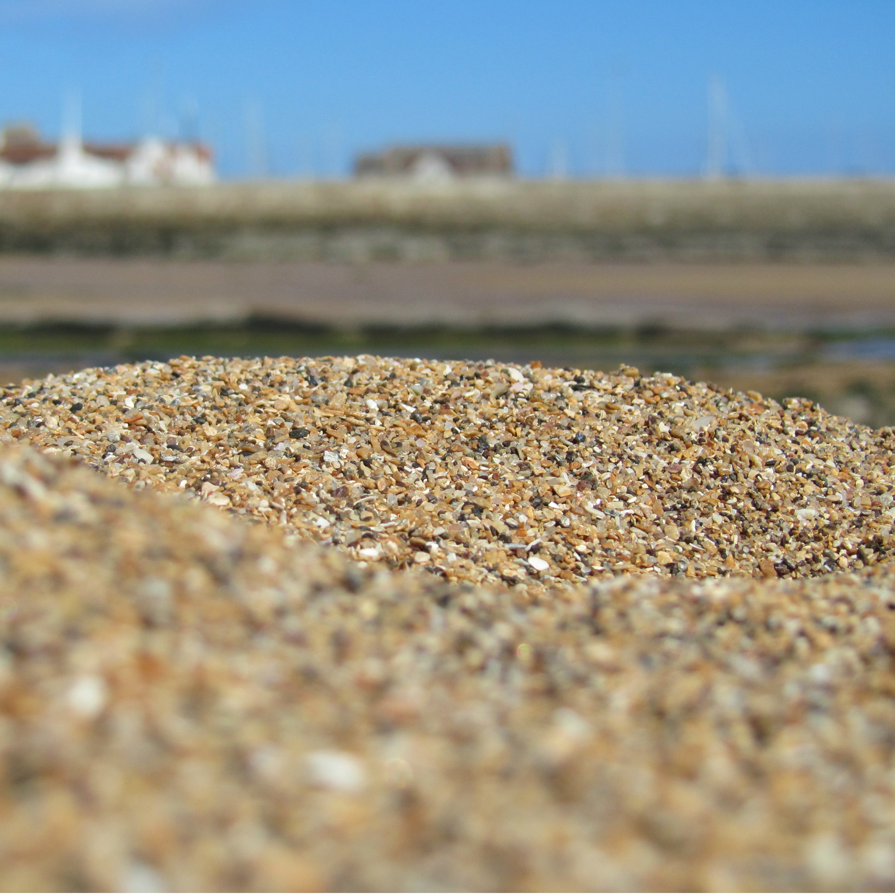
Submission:
[[[885,260],[895,180],[225,183],[0,194],[0,251],[240,260]]]

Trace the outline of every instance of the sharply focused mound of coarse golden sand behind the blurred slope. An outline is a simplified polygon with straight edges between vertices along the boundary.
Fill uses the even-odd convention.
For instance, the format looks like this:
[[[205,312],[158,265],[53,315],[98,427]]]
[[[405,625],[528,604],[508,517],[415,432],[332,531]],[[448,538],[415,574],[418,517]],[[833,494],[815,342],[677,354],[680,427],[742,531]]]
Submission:
[[[7,388],[0,439],[449,581],[806,577],[891,556],[891,430],[671,375],[182,357]]]

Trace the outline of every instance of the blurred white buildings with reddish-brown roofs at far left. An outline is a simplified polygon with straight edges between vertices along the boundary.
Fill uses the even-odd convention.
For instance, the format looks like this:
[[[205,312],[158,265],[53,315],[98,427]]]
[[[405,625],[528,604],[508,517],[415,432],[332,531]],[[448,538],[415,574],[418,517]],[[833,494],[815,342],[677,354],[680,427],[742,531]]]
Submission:
[[[0,133],[0,189],[204,186],[214,181],[211,150],[201,143],[155,137],[85,143],[76,134],[49,143],[30,124],[11,125]]]

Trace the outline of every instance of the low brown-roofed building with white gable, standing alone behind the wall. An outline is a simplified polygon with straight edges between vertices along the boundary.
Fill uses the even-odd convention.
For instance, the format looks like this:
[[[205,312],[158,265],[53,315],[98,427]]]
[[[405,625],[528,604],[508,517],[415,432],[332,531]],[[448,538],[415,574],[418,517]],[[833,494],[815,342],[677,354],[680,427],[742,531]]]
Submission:
[[[413,177],[452,180],[455,177],[503,176],[513,173],[513,152],[505,143],[482,146],[393,146],[358,156],[358,177]]]

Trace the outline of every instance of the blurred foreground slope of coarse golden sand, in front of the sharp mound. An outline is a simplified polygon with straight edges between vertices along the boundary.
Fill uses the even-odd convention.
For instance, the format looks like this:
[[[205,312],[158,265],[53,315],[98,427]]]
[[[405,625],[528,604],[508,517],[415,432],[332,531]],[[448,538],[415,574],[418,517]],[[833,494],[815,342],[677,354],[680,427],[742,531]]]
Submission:
[[[0,448],[4,889],[895,886],[890,565],[547,594],[295,540]]]

